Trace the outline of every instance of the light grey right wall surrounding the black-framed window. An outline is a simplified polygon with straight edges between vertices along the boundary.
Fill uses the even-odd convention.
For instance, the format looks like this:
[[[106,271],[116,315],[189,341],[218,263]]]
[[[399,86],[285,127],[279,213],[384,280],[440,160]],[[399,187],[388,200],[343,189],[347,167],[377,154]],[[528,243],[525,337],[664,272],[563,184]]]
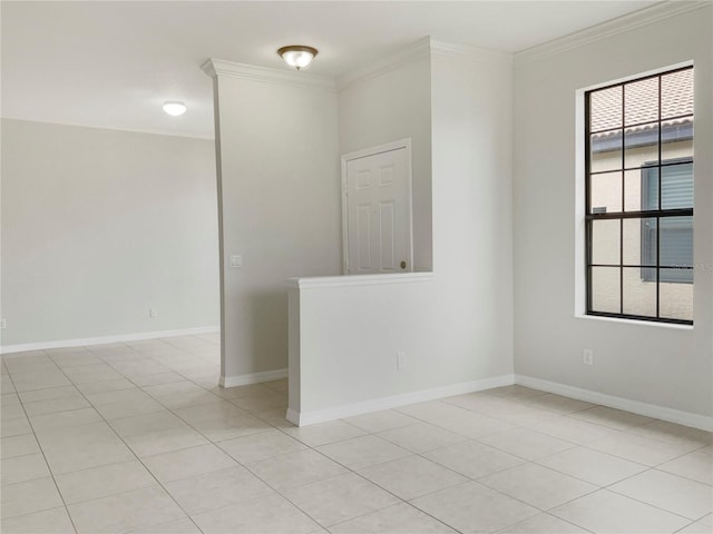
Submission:
[[[515,63],[517,374],[693,414],[713,413],[711,6]],[[551,49],[550,49],[551,50]],[[575,92],[695,61],[693,329],[575,318]],[[594,349],[594,365],[582,363]]]

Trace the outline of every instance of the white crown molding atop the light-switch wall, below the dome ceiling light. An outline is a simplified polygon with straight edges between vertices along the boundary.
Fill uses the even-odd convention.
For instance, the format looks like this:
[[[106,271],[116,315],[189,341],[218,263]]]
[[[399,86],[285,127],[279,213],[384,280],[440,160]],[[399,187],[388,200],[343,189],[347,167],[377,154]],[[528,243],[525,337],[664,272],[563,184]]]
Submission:
[[[233,61],[214,58],[208,59],[201,68],[206,75],[214,79],[229,77],[279,86],[321,89],[328,92],[336,91],[334,79],[326,76],[277,70],[268,67],[258,67],[256,65],[235,63]]]

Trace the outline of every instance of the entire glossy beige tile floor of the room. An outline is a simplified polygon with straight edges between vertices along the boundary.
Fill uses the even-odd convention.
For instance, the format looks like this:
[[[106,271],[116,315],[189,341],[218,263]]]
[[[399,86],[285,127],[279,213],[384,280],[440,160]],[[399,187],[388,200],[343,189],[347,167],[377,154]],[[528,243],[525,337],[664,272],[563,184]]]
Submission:
[[[296,428],[217,335],[2,357],[2,533],[711,533],[711,434],[520,386]]]

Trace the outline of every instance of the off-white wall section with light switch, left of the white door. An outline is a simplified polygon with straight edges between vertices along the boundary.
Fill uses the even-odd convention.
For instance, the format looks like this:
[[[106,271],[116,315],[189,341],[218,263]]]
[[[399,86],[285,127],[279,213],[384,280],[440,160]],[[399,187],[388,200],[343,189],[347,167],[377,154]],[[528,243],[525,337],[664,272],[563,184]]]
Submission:
[[[285,280],[341,271],[336,91],[304,72],[217,70],[222,375],[235,385],[287,366]]]

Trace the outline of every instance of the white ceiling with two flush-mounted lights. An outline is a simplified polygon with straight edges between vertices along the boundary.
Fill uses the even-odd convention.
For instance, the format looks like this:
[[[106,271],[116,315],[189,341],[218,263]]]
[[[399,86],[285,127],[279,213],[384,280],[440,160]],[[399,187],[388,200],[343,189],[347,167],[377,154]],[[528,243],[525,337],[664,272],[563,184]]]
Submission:
[[[2,1],[2,117],[213,137],[208,58],[339,77],[426,36],[517,52],[656,1]],[[183,117],[165,115],[183,100]]]

